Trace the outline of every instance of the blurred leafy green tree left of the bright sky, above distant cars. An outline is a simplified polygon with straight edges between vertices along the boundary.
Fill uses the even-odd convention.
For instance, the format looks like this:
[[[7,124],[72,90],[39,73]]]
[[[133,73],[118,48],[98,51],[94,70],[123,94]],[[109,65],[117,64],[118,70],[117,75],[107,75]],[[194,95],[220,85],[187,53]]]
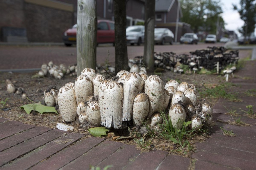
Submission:
[[[183,17],[181,20],[191,25],[194,33],[202,27],[205,31],[215,34],[218,16],[220,23],[224,23],[219,0],[181,0]],[[224,26],[224,24],[223,24]]]

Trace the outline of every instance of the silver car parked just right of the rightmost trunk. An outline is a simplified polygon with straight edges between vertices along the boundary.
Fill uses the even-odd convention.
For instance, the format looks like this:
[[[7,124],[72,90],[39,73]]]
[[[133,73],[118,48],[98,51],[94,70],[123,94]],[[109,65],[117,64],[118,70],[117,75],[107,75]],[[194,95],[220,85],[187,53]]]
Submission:
[[[155,43],[164,45],[166,42],[172,44],[174,34],[168,28],[155,28]]]

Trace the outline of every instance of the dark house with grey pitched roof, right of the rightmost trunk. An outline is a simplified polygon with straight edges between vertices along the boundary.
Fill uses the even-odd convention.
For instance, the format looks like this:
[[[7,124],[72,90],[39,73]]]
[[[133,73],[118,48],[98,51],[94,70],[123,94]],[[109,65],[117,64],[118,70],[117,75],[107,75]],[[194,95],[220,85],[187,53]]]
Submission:
[[[178,19],[177,41],[184,33],[192,33],[189,24],[180,22],[182,11],[178,0],[156,0],[155,13],[156,27],[169,28],[174,36],[176,35],[176,21]]]

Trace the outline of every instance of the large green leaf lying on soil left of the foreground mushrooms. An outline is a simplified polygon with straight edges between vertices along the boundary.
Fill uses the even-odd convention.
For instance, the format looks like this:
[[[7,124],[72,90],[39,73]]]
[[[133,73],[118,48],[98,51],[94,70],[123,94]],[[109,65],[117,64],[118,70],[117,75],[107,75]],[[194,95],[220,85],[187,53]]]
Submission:
[[[32,104],[28,104],[28,105],[23,105],[20,108],[23,108],[27,114],[30,114],[30,112],[32,110],[35,110],[41,114],[49,113],[49,112],[54,112],[54,113],[58,114],[58,112],[56,111],[56,109],[54,107],[44,106],[41,103],[32,103]]]

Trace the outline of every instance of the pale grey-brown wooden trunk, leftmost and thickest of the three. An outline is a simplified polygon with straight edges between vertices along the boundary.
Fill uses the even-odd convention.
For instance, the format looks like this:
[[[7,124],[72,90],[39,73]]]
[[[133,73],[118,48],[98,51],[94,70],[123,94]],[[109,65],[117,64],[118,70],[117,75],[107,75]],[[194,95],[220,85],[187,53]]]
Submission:
[[[77,1],[77,76],[85,68],[96,69],[97,48],[96,0]]]

